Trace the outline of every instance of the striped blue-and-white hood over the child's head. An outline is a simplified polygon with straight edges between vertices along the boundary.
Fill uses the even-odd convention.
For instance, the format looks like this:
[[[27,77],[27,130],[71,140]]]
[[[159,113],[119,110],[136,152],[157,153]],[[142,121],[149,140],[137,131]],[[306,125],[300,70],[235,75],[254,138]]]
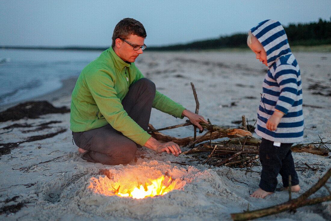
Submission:
[[[287,35],[280,22],[265,20],[252,28],[251,32],[262,44],[267,54],[269,69],[281,56],[291,53]]]

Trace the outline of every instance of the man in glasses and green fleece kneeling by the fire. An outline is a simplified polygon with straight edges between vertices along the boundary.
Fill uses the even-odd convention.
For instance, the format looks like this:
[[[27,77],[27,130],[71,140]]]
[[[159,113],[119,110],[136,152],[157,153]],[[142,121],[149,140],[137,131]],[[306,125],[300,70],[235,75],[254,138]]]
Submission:
[[[70,129],[81,157],[102,164],[126,164],[137,147],[178,156],[174,142],[160,143],[146,130],[152,107],[175,117],[187,117],[202,130],[202,116],[156,91],[133,63],[146,48],[144,26],[130,18],[121,20],[112,47],[81,72],[72,92]]]

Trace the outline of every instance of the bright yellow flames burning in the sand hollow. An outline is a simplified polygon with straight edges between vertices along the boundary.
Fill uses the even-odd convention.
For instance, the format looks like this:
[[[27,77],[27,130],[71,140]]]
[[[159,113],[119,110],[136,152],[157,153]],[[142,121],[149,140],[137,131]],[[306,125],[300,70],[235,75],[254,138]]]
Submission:
[[[134,188],[132,191],[130,190],[127,191],[127,193],[119,193],[118,190],[120,187],[118,187],[118,189],[115,190],[115,193],[117,193],[119,196],[130,196],[135,199],[142,199],[147,196],[164,195],[167,193],[165,190],[169,186],[169,183],[172,180],[172,178],[170,177],[168,181],[168,186],[162,184],[162,181],[164,179],[165,177],[162,176],[159,179],[150,180],[152,182],[151,185],[147,185],[147,183],[145,183],[145,186],[139,185],[138,187]]]

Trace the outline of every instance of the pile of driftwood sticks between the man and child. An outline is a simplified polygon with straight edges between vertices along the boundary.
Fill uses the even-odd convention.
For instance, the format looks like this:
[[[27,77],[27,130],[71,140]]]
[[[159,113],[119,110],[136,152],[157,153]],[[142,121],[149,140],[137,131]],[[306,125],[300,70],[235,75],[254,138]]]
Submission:
[[[196,102],[195,113],[198,114],[199,101],[193,83],[191,83],[191,86]],[[200,125],[204,129],[206,129],[207,132],[203,135],[197,136],[196,126],[194,126],[194,136],[186,138],[171,137],[161,133],[160,131],[192,125],[192,123],[189,121],[185,122],[184,124],[174,125],[160,129],[155,129],[153,125],[149,124],[148,133],[160,142],[173,141],[181,147],[189,147],[190,149],[183,152],[182,154],[193,154],[195,160],[201,161],[202,164],[208,163],[211,166],[225,165],[229,167],[245,167],[248,171],[250,167],[259,164],[258,154],[261,140],[252,137],[252,133],[248,130],[248,128],[251,129],[254,128],[254,126],[248,125],[248,123],[246,122],[245,115],[242,116],[241,122],[242,124],[239,128],[228,128],[213,125],[210,123],[210,121],[209,124],[200,122]],[[214,139],[225,137],[230,139],[219,142],[212,142],[212,140]],[[201,143],[207,140],[208,142]],[[198,145],[195,146],[196,144]],[[312,143],[306,144],[297,144],[295,146],[292,146],[291,150],[293,152],[308,152],[312,154],[327,156],[329,152],[331,152],[331,150],[327,147],[326,144],[331,144],[331,140],[323,142],[322,138],[320,138],[320,141],[314,141]],[[305,165],[301,166],[300,169],[306,170],[314,168],[309,168],[309,165]]]

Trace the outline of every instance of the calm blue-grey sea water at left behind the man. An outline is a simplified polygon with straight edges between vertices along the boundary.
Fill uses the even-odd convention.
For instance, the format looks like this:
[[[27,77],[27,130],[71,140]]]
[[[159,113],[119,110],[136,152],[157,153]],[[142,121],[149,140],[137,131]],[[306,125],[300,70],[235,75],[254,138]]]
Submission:
[[[0,49],[0,106],[59,89],[101,52]]]

